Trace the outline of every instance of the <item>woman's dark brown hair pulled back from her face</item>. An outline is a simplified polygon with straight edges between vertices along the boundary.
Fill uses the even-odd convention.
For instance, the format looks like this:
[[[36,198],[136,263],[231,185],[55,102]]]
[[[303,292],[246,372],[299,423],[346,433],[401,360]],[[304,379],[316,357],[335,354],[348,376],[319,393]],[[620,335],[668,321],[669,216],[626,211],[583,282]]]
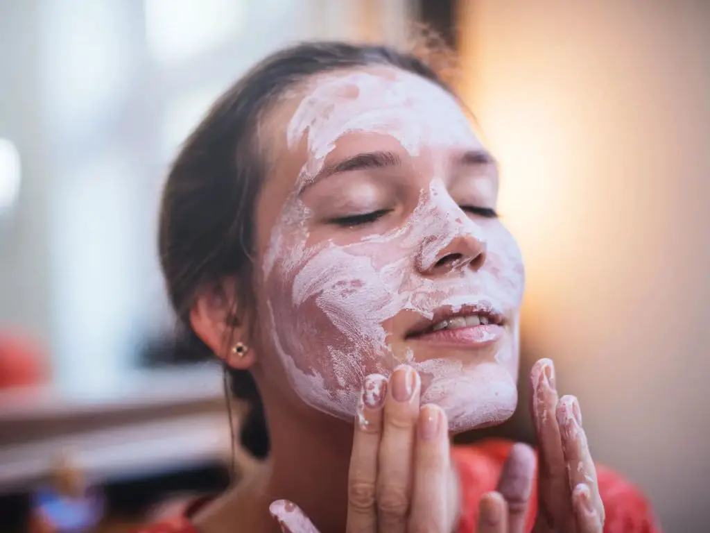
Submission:
[[[431,40],[431,34],[427,39]],[[426,51],[425,58],[386,46],[341,42],[307,42],[280,50],[230,87],[185,141],[163,190],[158,248],[170,301],[195,350],[212,357],[211,350],[190,330],[190,308],[201,286],[234,276],[239,305],[235,319],[253,309],[256,301],[254,211],[266,174],[256,146],[260,117],[288,88],[333,70],[388,65],[449,90],[437,72],[451,63],[442,65],[446,54],[432,53],[435,47],[425,44],[420,47]],[[268,433],[256,383],[248,371],[227,371],[234,396],[251,404],[241,424],[241,441],[255,456],[264,457]]]

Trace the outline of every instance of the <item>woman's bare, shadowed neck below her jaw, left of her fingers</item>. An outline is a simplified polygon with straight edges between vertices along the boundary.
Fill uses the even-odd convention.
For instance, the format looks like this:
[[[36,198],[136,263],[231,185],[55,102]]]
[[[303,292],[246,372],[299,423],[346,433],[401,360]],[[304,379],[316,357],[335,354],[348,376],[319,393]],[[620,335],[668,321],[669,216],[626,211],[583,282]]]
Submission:
[[[345,531],[347,479],[352,448],[350,424],[332,416],[304,416],[264,398],[271,451],[260,468],[195,520],[204,533],[279,532],[268,512],[275,500],[298,505],[320,531]],[[300,406],[299,406],[300,407]],[[236,524],[239,524],[236,529]]]

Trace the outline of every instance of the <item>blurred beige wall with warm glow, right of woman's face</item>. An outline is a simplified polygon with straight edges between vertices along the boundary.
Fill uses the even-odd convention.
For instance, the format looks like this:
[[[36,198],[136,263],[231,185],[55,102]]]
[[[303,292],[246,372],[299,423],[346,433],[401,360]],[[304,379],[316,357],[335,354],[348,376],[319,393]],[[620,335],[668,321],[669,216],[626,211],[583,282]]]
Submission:
[[[710,2],[460,4],[464,97],[528,268],[525,365],[555,360],[595,458],[668,531],[705,531]]]

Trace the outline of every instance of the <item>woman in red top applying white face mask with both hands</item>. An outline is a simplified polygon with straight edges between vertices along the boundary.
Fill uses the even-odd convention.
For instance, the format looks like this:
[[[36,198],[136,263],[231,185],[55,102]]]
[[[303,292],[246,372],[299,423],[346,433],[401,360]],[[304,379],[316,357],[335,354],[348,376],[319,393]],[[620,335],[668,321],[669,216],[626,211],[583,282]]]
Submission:
[[[523,262],[497,190],[415,55],[305,43],[226,92],[165,185],[160,259],[179,316],[255,402],[243,436],[268,426],[270,472],[146,531],[657,531],[596,470],[550,360],[530,378],[537,457],[449,448],[518,402]]]

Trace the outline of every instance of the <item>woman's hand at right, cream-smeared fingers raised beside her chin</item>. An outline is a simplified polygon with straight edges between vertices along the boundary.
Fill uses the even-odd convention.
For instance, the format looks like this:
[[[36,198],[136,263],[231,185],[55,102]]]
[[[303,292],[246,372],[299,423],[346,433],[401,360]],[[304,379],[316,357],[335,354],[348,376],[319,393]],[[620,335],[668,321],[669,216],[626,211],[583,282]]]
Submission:
[[[549,359],[530,373],[530,411],[537,434],[539,467],[535,533],[601,533],[604,506],[596,468],[581,427],[579,402],[559,399]],[[516,444],[498,489],[481,498],[479,533],[523,533],[535,473],[535,454]]]

